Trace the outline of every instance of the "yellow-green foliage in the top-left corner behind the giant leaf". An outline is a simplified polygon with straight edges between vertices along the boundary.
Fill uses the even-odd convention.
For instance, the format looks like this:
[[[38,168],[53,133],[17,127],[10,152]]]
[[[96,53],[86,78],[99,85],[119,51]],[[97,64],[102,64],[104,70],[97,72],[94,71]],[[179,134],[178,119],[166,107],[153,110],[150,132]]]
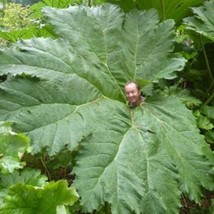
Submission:
[[[3,8],[1,20],[1,46],[8,45],[6,42],[16,42],[20,39],[29,39],[34,36],[53,36],[49,26],[36,19],[34,12],[29,6],[8,3]]]

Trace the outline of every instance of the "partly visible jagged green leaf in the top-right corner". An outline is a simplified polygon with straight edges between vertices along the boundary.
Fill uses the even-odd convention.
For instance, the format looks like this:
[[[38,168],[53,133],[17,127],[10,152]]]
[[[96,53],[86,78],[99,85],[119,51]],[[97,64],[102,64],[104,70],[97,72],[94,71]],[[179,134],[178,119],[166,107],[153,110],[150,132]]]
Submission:
[[[201,7],[193,7],[194,16],[184,19],[186,28],[214,41],[214,2],[206,1]]]

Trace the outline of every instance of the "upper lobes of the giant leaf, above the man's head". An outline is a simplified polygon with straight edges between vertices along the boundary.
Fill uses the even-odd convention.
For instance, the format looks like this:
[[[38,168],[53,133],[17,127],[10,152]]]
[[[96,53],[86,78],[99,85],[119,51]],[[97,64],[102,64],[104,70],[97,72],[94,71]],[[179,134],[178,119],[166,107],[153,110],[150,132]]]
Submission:
[[[124,100],[121,88],[127,80],[173,78],[186,62],[169,53],[175,41],[173,21],[159,23],[153,10],[125,15],[118,7],[104,5],[46,8],[44,14],[66,42],[24,41],[14,47],[12,57],[11,50],[4,50],[2,74],[33,73],[40,78],[76,74],[104,96]]]

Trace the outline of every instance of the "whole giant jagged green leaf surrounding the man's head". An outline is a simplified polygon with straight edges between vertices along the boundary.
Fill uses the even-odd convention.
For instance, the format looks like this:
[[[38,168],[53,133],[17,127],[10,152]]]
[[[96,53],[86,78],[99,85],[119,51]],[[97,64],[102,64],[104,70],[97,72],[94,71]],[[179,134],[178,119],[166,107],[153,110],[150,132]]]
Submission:
[[[155,10],[112,5],[46,8],[60,38],[21,41],[0,54],[0,119],[32,139],[32,152],[80,149],[75,187],[86,212],[178,213],[181,192],[213,189],[213,154],[175,96],[125,105],[127,80],[172,79],[174,22]],[[143,85],[142,85],[143,86]]]

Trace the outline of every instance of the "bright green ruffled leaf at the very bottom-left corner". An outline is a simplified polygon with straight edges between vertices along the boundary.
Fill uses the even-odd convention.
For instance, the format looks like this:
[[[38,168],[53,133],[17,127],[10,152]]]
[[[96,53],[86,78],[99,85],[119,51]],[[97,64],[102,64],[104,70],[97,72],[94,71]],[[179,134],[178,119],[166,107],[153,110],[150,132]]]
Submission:
[[[44,187],[18,183],[9,189],[0,213],[61,213],[65,205],[72,205],[77,199],[75,190],[68,188],[67,182],[63,180],[50,182]]]

